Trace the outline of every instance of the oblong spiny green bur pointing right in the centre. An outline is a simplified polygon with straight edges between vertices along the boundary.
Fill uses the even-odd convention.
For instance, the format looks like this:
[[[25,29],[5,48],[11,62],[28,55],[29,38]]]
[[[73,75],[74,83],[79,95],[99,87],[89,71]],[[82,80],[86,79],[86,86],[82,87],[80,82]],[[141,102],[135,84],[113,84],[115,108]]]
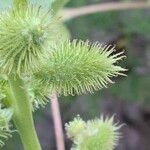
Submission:
[[[35,74],[37,82],[65,96],[106,87],[113,83],[110,78],[125,71],[115,65],[125,57],[123,52],[112,55],[115,49],[109,49],[110,46],[99,43],[63,42],[52,51],[48,66]]]

